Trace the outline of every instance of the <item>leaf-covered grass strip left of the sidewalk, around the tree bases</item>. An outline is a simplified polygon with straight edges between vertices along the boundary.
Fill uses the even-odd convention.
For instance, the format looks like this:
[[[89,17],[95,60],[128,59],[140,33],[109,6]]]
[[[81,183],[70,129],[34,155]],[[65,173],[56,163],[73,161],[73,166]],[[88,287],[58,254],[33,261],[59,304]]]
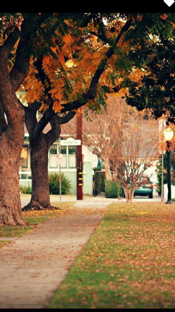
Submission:
[[[32,230],[37,224],[42,223],[49,218],[59,217],[59,215],[69,212],[69,207],[73,205],[73,202],[54,202],[52,205],[60,207],[62,210],[24,211],[22,212],[22,215],[24,220],[27,222],[27,225],[0,227],[0,237],[21,237],[27,231]],[[2,246],[5,244],[5,241],[1,241],[0,243],[0,246]]]

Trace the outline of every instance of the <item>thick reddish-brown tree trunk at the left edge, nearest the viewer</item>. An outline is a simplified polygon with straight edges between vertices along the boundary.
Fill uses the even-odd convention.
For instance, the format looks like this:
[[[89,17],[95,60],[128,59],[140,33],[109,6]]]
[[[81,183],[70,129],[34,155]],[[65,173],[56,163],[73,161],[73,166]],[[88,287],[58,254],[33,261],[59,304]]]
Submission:
[[[0,55],[0,224],[23,225],[19,193],[19,162],[24,143],[24,110],[12,90],[7,59]],[[4,122],[4,112],[7,121]]]

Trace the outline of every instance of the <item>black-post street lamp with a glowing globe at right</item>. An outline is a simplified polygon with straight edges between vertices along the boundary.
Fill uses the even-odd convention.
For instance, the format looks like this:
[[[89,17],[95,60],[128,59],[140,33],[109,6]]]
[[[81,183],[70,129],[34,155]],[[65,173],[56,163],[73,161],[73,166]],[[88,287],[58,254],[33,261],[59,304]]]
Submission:
[[[171,164],[170,164],[170,141],[173,139],[173,130],[169,127],[163,131],[165,140],[167,141],[167,184],[168,184],[168,200],[166,204],[173,204],[171,201]]]

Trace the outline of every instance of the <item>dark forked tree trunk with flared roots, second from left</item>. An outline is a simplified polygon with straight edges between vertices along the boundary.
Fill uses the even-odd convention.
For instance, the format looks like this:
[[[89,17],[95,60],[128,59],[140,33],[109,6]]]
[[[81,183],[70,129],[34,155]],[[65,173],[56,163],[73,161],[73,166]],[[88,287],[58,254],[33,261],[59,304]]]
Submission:
[[[31,109],[25,109],[25,122],[29,132],[31,150],[32,195],[30,203],[22,210],[60,209],[50,204],[48,152],[50,146],[59,138],[60,124],[72,119],[75,112],[69,112],[64,117],[54,115],[50,120],[52,129],[47,134],[43,134],[39,122],[37,123],[36,111],[35,105],[31,106]]]

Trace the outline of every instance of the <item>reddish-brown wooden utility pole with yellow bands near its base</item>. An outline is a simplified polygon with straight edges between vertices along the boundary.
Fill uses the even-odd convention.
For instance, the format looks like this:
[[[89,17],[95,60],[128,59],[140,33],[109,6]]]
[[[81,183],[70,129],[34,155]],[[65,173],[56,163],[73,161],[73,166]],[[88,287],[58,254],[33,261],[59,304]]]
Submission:
[[[83,200],[82,107],[77,115],[77,140],[81,140],[81,145],[77,145],[77,200]]]

